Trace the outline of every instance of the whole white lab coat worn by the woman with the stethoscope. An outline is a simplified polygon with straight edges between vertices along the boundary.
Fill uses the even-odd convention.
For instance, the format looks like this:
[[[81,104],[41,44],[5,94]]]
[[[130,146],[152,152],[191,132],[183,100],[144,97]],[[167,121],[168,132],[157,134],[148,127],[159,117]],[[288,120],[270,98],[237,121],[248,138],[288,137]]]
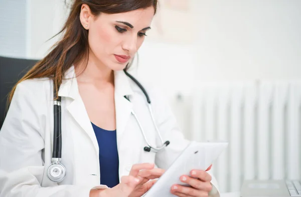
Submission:
[[[0,131],[0,197],[88,197],[90,189],[99,185],[98,144],[74,76],[71,67],[59,89],[65,179],[55,183],[46,176],[53,143],[53,82],[48,78],[26,80],[17,86]],[[114,72],[114,76],[119,177],[128,175],[135,163],[155,162],[160,168],[168,168],[189,143],[183,138],[171,110],[160,94],[142,84],[152,101],[163,139],[171,142],[159,153],[143,151],[146,143],[131,109],[136,112],[149,142],[160,145],[146,99],[123,71]],[[212,184],[212,195],[218,196],[214,177]]]

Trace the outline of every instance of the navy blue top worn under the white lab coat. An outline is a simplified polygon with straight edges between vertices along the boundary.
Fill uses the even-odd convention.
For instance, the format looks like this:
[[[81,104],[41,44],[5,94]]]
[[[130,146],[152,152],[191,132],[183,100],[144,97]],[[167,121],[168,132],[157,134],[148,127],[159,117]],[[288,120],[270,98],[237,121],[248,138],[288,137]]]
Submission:
[[[119,184],[116,130],[107,131],[93,123],[92,126],[99,146],[100,184],[114,187]]]

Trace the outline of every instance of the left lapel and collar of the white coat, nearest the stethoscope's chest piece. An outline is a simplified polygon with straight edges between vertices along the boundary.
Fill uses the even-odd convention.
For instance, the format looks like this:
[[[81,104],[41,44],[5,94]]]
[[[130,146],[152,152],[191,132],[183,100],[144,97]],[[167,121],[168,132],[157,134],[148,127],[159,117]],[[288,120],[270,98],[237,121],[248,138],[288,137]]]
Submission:
[[[86,111],[84,102],[82,101],[78,91],[78,85],[73,66],[66,72],[64,78],[65,79],[60,86],[59,96],[67,97],[68,100],[69,98],[73,99],[71,102],[68,102],[70,104],[67,104],[66,109],[70,112],[72,117],[80,125],[83,131],[85,131],[89,136],[98,155],[98,142],[95,137],[95,133]]]

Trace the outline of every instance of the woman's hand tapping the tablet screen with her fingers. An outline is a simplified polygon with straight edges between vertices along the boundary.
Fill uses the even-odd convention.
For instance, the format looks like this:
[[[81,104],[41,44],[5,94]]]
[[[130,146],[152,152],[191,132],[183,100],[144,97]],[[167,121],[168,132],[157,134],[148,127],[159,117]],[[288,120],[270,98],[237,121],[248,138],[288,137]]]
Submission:
[[[159,178],[164,170],[154,168],[153,163],[134,164],[128,176],[122,176],[121,182],[116,186],[100,190],[99,197],[137,197],[143,195]]]

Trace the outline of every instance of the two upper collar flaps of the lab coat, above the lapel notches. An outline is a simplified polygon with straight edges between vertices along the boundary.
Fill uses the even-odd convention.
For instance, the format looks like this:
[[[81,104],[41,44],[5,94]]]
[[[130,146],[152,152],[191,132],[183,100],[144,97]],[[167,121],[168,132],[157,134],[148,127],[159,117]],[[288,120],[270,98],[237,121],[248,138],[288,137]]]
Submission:
[[[125,75],[123,70],[114,71],[115,97],[130,96],[133,94],[129,80],[130,79]],[[69,97],[74,100],[79,97],[74,66],[71,66],[66,71],[58,95],[61,97]]]

